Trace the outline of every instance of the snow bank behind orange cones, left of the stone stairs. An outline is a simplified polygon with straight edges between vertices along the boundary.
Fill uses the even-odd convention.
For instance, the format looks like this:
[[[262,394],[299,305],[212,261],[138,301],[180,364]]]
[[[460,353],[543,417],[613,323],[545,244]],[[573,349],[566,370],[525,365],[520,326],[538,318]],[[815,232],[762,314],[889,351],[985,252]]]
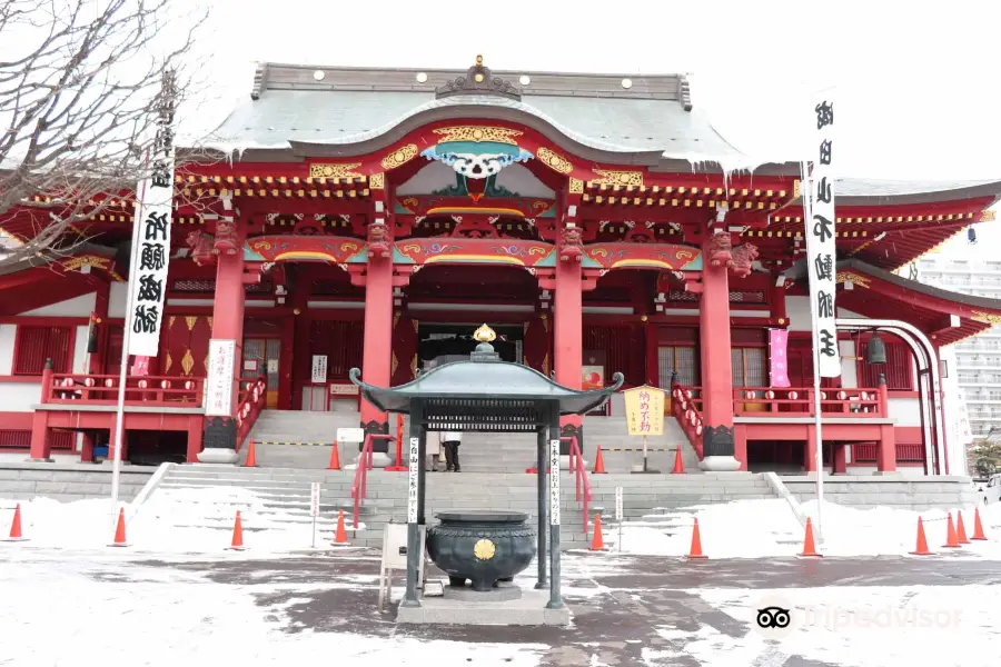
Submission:
[[[13,505],[0,500],[2,508]],[[159,489],[141,506],[122,507],[126,537],[135,550],[219,552],[231,544],[237,510],[244,545],[254,557],[310,549],[313,544],[313,519],[307,506],[265,499],[236,487]],[[0,510],[0,531],[8,530],[11,515],[10,509]],[[22,531],[32,547],[101,548],[112,541],[117,520],[118,507],[110,499],[21,501]],[[317,548],[329,547],[336,520],[336,515],[329,512],[317,519]],[[350,537],[349,515],[345,524]],[[359,528],[364,530],[364,524]]]

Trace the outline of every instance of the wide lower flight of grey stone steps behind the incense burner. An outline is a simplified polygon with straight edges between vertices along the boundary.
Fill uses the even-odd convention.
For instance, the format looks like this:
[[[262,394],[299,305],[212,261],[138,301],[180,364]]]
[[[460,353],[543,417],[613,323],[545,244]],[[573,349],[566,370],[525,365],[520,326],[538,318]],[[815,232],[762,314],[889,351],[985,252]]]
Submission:
[[[205,502],[204,510],[186,512],[190,527],[232,529],[232,516],[241,511],[247,531],[271,526],[311,524],[309,485],[319,481],[320,540],[329,542],[336,528],[338,510],[345,511],[349,540],[357,546],[380,547],[383,528],[390,520],[404,522],[407,506],[407,474],[371,470],[368,496],[359,511],[363,529],[351,529],[353,471],[303,470],[289,468],[237,468],[222,466],[171,466],[156,495],[177,495],[191,502]],[[604,508],[606,521],[614,517],[615,489],[623,487],[625,525],[656,528],[671,535],[677,527],[690,526],[687,518],[698,506],[744,498],[775,497],[767,482],[754,474],[702,475],[589,475],[593,499],[591,514]],[[536,524],[536,477],[522,472],[428,472],[426,516],[435,521],[435,511],[448,509],[513,509],[529,515]],[[562,525],[564,549],[586,548],[589,536],[584,531],[582,504],[576,501],[574,477],[562,476]],[[199,500],[191,489],[242,490],[220,500],[218,495]],[[187,494],[187,496],[185,496]],[[220,504],[228,505],[220,507]]]

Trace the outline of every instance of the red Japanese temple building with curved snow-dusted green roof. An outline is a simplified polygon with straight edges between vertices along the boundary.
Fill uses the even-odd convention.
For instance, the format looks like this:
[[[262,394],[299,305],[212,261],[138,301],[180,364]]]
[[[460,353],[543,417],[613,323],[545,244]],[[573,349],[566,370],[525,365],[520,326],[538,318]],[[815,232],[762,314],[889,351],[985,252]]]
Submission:
[[[405,384],[466,358],[486,322],[505,360],[566,387],[622,372],[671,391],[704,469],[813,470],[800,176],[731,146],[683,76],[261,64],[211,140],[178,149],[159,354],[130,362],[125,457],[232,450],[266,410],[389,432],[349,370]],[[826,465],[949,474],[938,350],[1001,301],[894,270],[992,220],[1001,181],[835,192]],[[8,456],[90,460],[113,437],[133,202],[112,199],[71,256],[0,276]],[[36,229],[28,209],[3,226]],[[207,417],[211,340],[236,341],[236,388]],[[593,451],[603,418],[562,428]]]

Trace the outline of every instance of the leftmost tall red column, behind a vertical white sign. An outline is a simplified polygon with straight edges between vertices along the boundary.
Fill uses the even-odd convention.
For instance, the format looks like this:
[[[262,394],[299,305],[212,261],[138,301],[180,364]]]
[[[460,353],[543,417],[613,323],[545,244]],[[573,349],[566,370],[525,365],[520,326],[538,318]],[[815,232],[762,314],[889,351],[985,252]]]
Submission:
[[[201,462],[235,462],[237,422],[236,409],[239,405],[239,377],[244,350],[244,230],[231,217],[220,217],[216,225],[215,250],[216,293],[212,301],[212,340],[235,340],[232,364],[232,396],[228,417],[206,417],[202,445],[211,454],[200,452]],[[194,454],[195,444],[188,447],[188,458]],[[229,452],[225,450],[230,450]]]

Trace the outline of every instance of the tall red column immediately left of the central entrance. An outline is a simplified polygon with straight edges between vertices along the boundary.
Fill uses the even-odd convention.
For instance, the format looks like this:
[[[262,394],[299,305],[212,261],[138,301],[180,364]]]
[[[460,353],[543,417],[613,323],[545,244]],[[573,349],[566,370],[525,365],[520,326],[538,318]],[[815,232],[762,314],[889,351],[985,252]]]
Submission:
[[[361,379],[376,387],[388,387],[393,354],[393,241],[384,199],[373,202],[368,225],[368,267],[365,273],[365,338],[361,352]],[[365,432],[388,434],[386,412],[361,401],[361,428]],[[388,451],[388,441],[377,440],[375,451]]]

